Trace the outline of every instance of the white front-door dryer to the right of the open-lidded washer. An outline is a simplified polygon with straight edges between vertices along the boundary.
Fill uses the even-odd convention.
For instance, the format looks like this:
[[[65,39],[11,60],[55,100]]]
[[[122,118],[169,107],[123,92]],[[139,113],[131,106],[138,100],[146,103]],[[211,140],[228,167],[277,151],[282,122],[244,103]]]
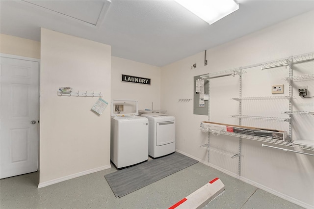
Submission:
[[[149,122],[148,154],[162,157],[176,151],[176,119],[161,113],[141,114]]]

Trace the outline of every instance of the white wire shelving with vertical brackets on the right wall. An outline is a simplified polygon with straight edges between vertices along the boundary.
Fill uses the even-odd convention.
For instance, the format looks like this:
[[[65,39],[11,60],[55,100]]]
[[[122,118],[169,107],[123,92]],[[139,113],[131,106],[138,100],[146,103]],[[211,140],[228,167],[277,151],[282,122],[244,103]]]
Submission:
[[[262,64],[256,64],[246,67],[240,67],[233,70],[227,70],[227,71],[220,71],[215,73],[210,73],[202,76],[202,79],[207,79],[209,81],[209,103],[210,103],[210,79],[211,78],[220,78],[225,76],[233,76],[239,75],[239,97],[238,98],[232,98],[235,101],[239,102],[239,113],[238,115],[232,115],[231,117],[238,118],[239,119],[239,125],[241,126],[242,119],[255,119],[255,120],[268,120],[268,121],[278,121],[278,122],[288,122],[289,130],[288,136],[285,138],[285,140],[278,140],[278,139],[271,139],[271,138],[264,138],[264,137],[258,137],[248,134],[241,134],[241,133],[234,133],[234,132],[228,132],[223,130],[211,130],[209,128],[205,128],[202,126],[201,123],[201,131],[208,132],[208,144],[202,145],[202,148],[206,148],[208,150],[208,162],[209,162],[209,151],[220,153],[226,156],[231,157],[238,157],[238,175],[241,175],[241,143],[242,138],[245,139],[251,139],[261,142],[267,142],[277,145],[283,145],[287,147],[293,147],[293,148],[300,148],[303,150],[310,150],[314,151],[314,146],[311,144],[294,144],[292,143],[292,122],[291,122],[291,114],[308,114],[308,115],[314,115],[314,112],[305,112],[305,111],[292,111],[292,99],[295,99],[295,97],[292,96],[292,80],[299,80],[299,79],[310,79],[314,78],[314,74],[307,74],[307,75],[299,75],[299,76],[292,76],[292,66],[293,64],[306,62],[314,60],[314,52],[310,52],[307,54],[301,54],[297,56],[289,56],[287,58],[278,59],[275,61],[270,61],[267,63]],[[270,69],[270,68],[276,68],[280,66],[288,67],[288,77],[282,78],[289,82],[289,95],[288,96],[261,96],[261,97],[242,97],[242,73],[246,73],[243,71],[243,69],[252,68],[262,66],[262,70],[264,69]],[[288,114],[287,118],[278,118],[278,117],[264,117],[264,116],[248,116],[248,115],[242,115],[242,101],[244,100],[279,100],[279,99],[287,99],[289,103],[289,110],[288,111],[282,111],[284,114]],[[208,104],[208,121],[210,122],[210,104]],[[211,146],[210,143],[210,135],[211,133],[214,133],[216,135],[222,134],[222,135],[229,135],[234,136],[239,139],[238,143],[238,152],[231,152],[227,151],[223,148],[216,149],[215,147]],[[267,146],[267,145],[266,145]],[[298,152],[301,154],[305,154],[302,152]]]

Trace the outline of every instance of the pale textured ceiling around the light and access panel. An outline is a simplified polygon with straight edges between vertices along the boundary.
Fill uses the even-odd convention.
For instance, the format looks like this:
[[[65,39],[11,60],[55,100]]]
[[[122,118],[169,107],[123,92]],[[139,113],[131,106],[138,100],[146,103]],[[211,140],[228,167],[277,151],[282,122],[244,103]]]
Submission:
[[[314,10],[314,0],[237,2],[239,10],[209,25],[172,0],[112,0],[105,18],[89,26],[21,0],[0,0],[0,32],[40,41],[45,27],[108,44],[113,56],[164,66]]]

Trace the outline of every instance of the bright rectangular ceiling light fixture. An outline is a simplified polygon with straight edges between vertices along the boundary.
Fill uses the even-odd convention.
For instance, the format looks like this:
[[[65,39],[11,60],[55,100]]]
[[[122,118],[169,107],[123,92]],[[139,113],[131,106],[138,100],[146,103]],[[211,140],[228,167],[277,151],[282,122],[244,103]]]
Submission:
[[[239,9],[234,0],[175,0],[209,25]]]

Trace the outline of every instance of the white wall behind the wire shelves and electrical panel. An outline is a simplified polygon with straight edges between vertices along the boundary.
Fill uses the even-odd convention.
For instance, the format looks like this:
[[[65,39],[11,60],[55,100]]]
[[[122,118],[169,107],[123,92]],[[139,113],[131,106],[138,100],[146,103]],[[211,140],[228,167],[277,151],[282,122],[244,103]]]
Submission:
[[[193,115],[193,102],[178,103],[178,99],[193,98],[193,77],[207,73],[235,69],[267,62],[290,55],[314,52],[314,11],[294,17],[258,32],[246,35],[224,45],[207,51],[208,66],[204,66],[204,52],[184,58],[161,69],[161,108],[177,119],[177,149],[191,157],[218,168],[232,176],[237,176],[238,159],[231,159],[210,152],[200,145],[208,143],[208,133],[199,130],[200,122],[208,116]],[[197,68],[191,70],[193,63]],[[314,63],[294,65],[294,74],[314,73]],[[284,84],[288,95],[288,77],[285,67],[261,71],[260,67],[249,68],[243,74],[243,95],[272,96],[271,85]],[[294,82],[293,110],[314,111],[312,99],[300,98],[296,93],[298,86],[308,85],[314,96],[313,79]],[[238,114],[239,103],[231,98],[239,97],[239,77],[223,77],[210,80],[210,121],[238,124],[238,119],[229,115]],[[287,117],[281,114],[288,110],[287,101],[247,101],[243,103],[242,114],[256,116]],[[275,128],[288,131],[285,122],[256,122],[242,120],[242,125]],[[313,116],[293,116],[293,139],[314,140]],[[210,136],[210,144],[237,151],[238,138]],[[241,177],[243,181],[255,184],[273,194],[306,208],[314,207],[314,157],[279,150],[262,148],[262,142],[242,139]],[[271,144],[268,144],[271,145]],[[276,146],[276,145],[275,145]],[[279,146],[280,147],[280,146]],[[284,147],[287,148],[287,147]],[[293,149],[293,148],[288,148]],[[313,151],[305,151],[314,154]]]

